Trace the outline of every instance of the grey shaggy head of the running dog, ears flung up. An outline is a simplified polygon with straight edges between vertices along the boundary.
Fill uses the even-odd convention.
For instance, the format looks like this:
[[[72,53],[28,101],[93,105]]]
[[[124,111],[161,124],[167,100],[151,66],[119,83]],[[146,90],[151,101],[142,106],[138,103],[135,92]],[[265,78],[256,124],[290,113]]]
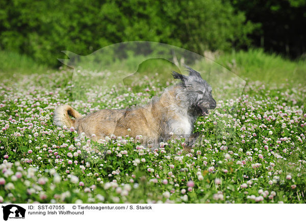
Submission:
[[[212,95],[212,87],[202,79],[200,73],[186,66],[189,76],[172,71],[174,79],[180,79],[185,87],[189,107],[197,114],[206,115],[209,109],[216,108],[216,101]]]

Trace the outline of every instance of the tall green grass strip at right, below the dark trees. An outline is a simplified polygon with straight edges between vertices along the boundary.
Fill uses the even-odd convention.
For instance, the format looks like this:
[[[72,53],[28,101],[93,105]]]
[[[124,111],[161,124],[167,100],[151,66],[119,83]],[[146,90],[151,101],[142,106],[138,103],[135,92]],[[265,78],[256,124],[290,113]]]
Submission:
[[[241,78],[264,83],[306,83],[306,62],[290,61],[276,54],[264,53],[261,49],[223,54],[215,59]]]

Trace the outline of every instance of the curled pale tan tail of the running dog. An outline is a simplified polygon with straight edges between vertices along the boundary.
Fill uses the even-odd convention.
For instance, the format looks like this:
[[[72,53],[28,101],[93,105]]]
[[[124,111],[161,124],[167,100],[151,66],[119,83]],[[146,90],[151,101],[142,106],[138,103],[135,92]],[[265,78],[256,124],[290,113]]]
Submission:
[[[74,117],[75,119],[81,118],[81,114],[75,111],[71,106],[64,105],[59,106],[54,111],[53,122],[57,126],[67,126],[67,127],[75,127],[75,119],[71,119],[69,116]]]

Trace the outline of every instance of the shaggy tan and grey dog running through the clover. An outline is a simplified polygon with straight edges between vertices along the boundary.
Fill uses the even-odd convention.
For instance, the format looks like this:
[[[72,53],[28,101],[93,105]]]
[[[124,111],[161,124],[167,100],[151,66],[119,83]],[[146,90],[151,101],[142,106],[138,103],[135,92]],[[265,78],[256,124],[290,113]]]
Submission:
[[[160,97],[153,97],[143,107],[115,110],[104,109],[82,117],[71,106],[60,106],[55,110],[54,124],[74,127],[94,141],[105,136],[142,135],[142,143],[158,145],[171,137],[189,139],[194,121],[216,107],[212,87],[201,78],[200,73],[186,66],[189,76],[172,71],[180,83],[166,88]],[[69,116],[74,117],[71,119]]]

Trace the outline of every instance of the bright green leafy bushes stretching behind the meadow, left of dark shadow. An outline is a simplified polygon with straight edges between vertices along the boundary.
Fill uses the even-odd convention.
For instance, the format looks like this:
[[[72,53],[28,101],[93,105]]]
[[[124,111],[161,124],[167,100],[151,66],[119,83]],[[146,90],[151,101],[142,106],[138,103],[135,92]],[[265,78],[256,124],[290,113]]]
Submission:
[[[0,3],[0,48],[57,65],[68,50],[89,54],[134,40],[203,50],[249,45],[254,25],[229,1],[4,0]]]

